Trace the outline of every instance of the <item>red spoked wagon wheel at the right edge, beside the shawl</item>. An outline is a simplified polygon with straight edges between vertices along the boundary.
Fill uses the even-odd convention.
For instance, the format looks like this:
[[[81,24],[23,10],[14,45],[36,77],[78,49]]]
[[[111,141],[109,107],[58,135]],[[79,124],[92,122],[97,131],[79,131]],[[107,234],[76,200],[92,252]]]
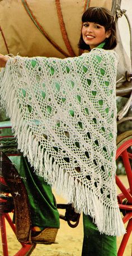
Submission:
[[[116,160],[119,159],[124,165],[129,183],[129,188],[126,188],[120,178],[116,176],[116,185],[121,190],[121,193],[117,195],[117,200],[123,215],[122,221],[124,224],[128,222],[126,233],[122,238],[117,254],[118,256],[122,256],[132,232],[132,131],[124,132],[117,137]]]

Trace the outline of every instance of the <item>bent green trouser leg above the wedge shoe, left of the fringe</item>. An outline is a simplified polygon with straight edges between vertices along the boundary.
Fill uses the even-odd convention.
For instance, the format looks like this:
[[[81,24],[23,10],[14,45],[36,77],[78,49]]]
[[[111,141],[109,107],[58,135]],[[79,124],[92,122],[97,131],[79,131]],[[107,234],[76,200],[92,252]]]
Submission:
[[[37,176],[31,168],[27,158],[23,156],[10,156],[23,183],[29,198],[32,226],[59,228],[59,213],[51,187],[43,177]]]

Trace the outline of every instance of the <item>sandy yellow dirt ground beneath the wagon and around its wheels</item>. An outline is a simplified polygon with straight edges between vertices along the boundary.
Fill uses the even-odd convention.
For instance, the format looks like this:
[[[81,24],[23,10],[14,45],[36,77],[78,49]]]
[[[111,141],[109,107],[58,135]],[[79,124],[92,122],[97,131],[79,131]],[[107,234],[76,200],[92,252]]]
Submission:
[[[126,185],[128,182],[126,176],[121,176],[122,182]],[[127,186],[127,185],[126,185]],[[119,193],[119,192],[118,192]],[[56,196],[57,203],[65,203],[64,199]],[[63,210],[60,213],[64,213]],[[117,247],[119,248],[122,237],[117,237]],[[18,243],[15,235],[11,228],[7,224],[7,240],[8,240],[8,251],[9,256],[15,255],[21,245]],[[53,245],[36,245],[36,248],[32,252],[32,256],[81,256],[83,240],[83,224],[82,216],[79,224],[76,228],[70,228],[67,222],[60,220],[60,230],[56,237],[58,244]],[[0,244],[1,240],[0,240]],[[0,246],[0,256],[2,253],[2,246]],[[124,256],[132,256],[132,234],[129,238],[128,245],[125,249]],[[21,256],[21,255],[19,255]],[[87,255],[86,255],[87,256]],[[93,255],[94,256],[94,255]]]

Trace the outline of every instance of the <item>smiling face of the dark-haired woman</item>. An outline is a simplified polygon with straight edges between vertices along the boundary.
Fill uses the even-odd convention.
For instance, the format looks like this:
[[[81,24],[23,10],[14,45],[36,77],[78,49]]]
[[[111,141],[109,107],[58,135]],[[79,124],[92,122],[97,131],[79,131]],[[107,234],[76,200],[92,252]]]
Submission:
[[[89,45],[91,50],[110,37],[110,30],[105,31],[105,27],[97,23],[85,22],[82,27],[83,41]]]

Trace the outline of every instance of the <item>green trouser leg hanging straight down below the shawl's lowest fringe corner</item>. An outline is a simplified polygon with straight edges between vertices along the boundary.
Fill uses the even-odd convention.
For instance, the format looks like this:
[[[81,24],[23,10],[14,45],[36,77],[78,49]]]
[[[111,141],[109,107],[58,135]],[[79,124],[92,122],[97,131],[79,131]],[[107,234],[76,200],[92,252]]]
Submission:
[[[83,214],[82,256],[116,256],[116,237],[100,234],[92,218]]]

